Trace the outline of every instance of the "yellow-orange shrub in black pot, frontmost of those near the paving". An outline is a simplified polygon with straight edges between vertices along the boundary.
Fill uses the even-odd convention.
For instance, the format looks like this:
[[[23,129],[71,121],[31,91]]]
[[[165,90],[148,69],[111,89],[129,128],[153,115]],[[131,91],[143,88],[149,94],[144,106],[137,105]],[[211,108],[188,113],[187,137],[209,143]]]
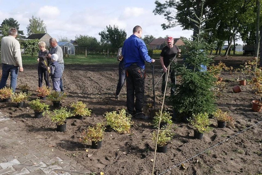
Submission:
[[[105,126],[101,123],[97,123],[95,126],[88,126],[87,130],[84,133],[82,141],[84,143],[91,140],[92,147],[94,149],[99,149],[102,146],[102,140],[104,137]]]

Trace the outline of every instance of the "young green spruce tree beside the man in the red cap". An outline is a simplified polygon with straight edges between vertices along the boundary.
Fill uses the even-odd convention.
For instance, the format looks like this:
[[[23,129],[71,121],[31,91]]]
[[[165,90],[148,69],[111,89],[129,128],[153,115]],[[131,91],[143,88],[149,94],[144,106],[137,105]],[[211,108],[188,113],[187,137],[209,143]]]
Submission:
[[[203,6],[202,6],[203,8]],[[212,91],[216,78],[204,71],[201,65],[208,66],[213,57],[209,57],[210,49],[214,48],[215,43],[208,44],[201,37],[204,34],[201,26],[206,21],[196,17],[194,21],[198,26],[198,34],[193,41],[182,38],[185,43],[181,46],[181,57],[183,64],[175,64],[176,76],[179,78],[179,84],[176,85],[176,93],[170,97],[173,109],[180,115],[192,117],[192,114],[207,113],[210,114],[215,110],[215,95]]]

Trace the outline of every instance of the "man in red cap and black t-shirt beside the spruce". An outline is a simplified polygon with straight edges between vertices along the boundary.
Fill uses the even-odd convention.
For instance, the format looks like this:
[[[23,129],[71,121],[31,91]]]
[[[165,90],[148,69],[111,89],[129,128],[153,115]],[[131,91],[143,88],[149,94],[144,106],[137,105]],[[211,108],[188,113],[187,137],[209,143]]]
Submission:
[[[163,68],[163,72],[164,72],[164,75],[163,75],[163,80],[162,80],[162,87],[161,87],[161,92],[162,94],[164,94],[165,92],[165,83],[167,81],[167,67],[168,65],[170,64],[170,62],[173,60],[174,56],[177,55],[177,53],[179,52],[179,49],[176,45],[173,45],[174,44],[174,39],[173,37],[168,37],[167,38],[167,46],[165,46],[161,53],[160,53],[160,63],[161,63],[161,66]],[[173,60],[174,63],[177,62],[177,58],[175,58]],[[175,71],[174,70],[170,70],[170,77],[171,77],[171,95],[173,95],[175,93],[175,85],[177,84],[177,79],[176,79],[176,76],[175,76]]]

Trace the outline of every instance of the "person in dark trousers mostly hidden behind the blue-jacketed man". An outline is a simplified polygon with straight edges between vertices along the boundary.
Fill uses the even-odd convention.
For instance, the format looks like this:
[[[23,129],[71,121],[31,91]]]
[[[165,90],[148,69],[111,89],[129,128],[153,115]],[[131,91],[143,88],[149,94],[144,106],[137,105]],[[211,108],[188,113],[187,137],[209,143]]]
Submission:
[[[119,68],[118,68],[118,83],[117,83],[117,90],[115,98],[119,99],[119,93],[123,87],[123,84],[125,83],[125,62],[122,56],[122,48],[118,49],[117,52],[117,61],[120,61]]]

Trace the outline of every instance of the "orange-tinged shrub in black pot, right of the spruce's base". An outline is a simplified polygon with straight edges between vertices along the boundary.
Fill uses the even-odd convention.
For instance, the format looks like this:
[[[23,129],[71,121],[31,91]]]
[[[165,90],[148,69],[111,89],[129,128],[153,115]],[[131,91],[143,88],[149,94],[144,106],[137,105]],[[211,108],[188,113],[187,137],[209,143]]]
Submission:
[[[226,127],[226,123],[229,123],[230,126],[234,126],[234,120],[232,118],[232,116],[230,116],[228,114],[228,112],[223,112],[221,111],[221,109],[217,109],[214,113],[213,113],[214,118],[217,119],[217,126],[219,128],[225,128]]]

